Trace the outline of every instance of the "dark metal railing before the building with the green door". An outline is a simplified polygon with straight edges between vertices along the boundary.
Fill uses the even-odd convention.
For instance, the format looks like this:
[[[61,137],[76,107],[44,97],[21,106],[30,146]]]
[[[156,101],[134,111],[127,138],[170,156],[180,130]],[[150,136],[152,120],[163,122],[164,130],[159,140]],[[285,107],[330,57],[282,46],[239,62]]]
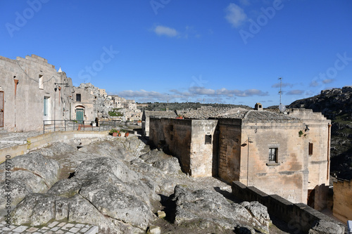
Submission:
[[[108,131],[121,124],[119,120],[43,120],[43,134],[49,131]]]

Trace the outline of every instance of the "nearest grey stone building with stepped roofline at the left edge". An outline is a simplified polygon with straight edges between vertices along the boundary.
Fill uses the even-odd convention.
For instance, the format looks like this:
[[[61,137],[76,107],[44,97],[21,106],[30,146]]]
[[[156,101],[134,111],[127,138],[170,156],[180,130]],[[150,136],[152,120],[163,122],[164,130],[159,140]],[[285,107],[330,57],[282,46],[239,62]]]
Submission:
[[[0,56],[0,74],[0,128],[4,131],[40,131],[43,120],[70,118],[72,80],[46,59]]]

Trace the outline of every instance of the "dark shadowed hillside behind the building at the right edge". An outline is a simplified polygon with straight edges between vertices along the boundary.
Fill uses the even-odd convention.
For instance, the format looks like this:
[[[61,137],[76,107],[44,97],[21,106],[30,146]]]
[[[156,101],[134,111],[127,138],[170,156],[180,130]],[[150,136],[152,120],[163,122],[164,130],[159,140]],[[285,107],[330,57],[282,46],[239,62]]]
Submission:
[[[352,178],[352,86],[323,90],[317,96],[296,100],[289,108],[322,112],[332,120],[331,171],[333,176]]]

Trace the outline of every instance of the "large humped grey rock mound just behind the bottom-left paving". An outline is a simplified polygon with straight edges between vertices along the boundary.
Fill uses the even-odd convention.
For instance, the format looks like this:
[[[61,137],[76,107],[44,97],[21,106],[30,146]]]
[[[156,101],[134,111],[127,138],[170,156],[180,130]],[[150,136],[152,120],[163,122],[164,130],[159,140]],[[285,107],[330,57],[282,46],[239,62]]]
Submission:
[[[122,161],[99,157],[82,162],[73,178],[58,181],[46,194],[26,196],[13,221],[37,226],[68,219],[106,233],[143,233],[155,217],[149,197],[153,191]]]

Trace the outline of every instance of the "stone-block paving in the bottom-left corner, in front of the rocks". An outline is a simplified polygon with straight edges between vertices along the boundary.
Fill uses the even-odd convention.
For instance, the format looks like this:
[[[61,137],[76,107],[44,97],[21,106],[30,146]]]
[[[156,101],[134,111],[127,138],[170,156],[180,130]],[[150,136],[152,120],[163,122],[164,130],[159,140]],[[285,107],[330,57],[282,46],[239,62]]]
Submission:
[[[96,234],[98,227],[82,223],[65,223],[53,221],[47,223],[46,226],[30,227],[30,226],[10,226],[7,228],[5,221],[0,223],[0,233],[4,234]]]

